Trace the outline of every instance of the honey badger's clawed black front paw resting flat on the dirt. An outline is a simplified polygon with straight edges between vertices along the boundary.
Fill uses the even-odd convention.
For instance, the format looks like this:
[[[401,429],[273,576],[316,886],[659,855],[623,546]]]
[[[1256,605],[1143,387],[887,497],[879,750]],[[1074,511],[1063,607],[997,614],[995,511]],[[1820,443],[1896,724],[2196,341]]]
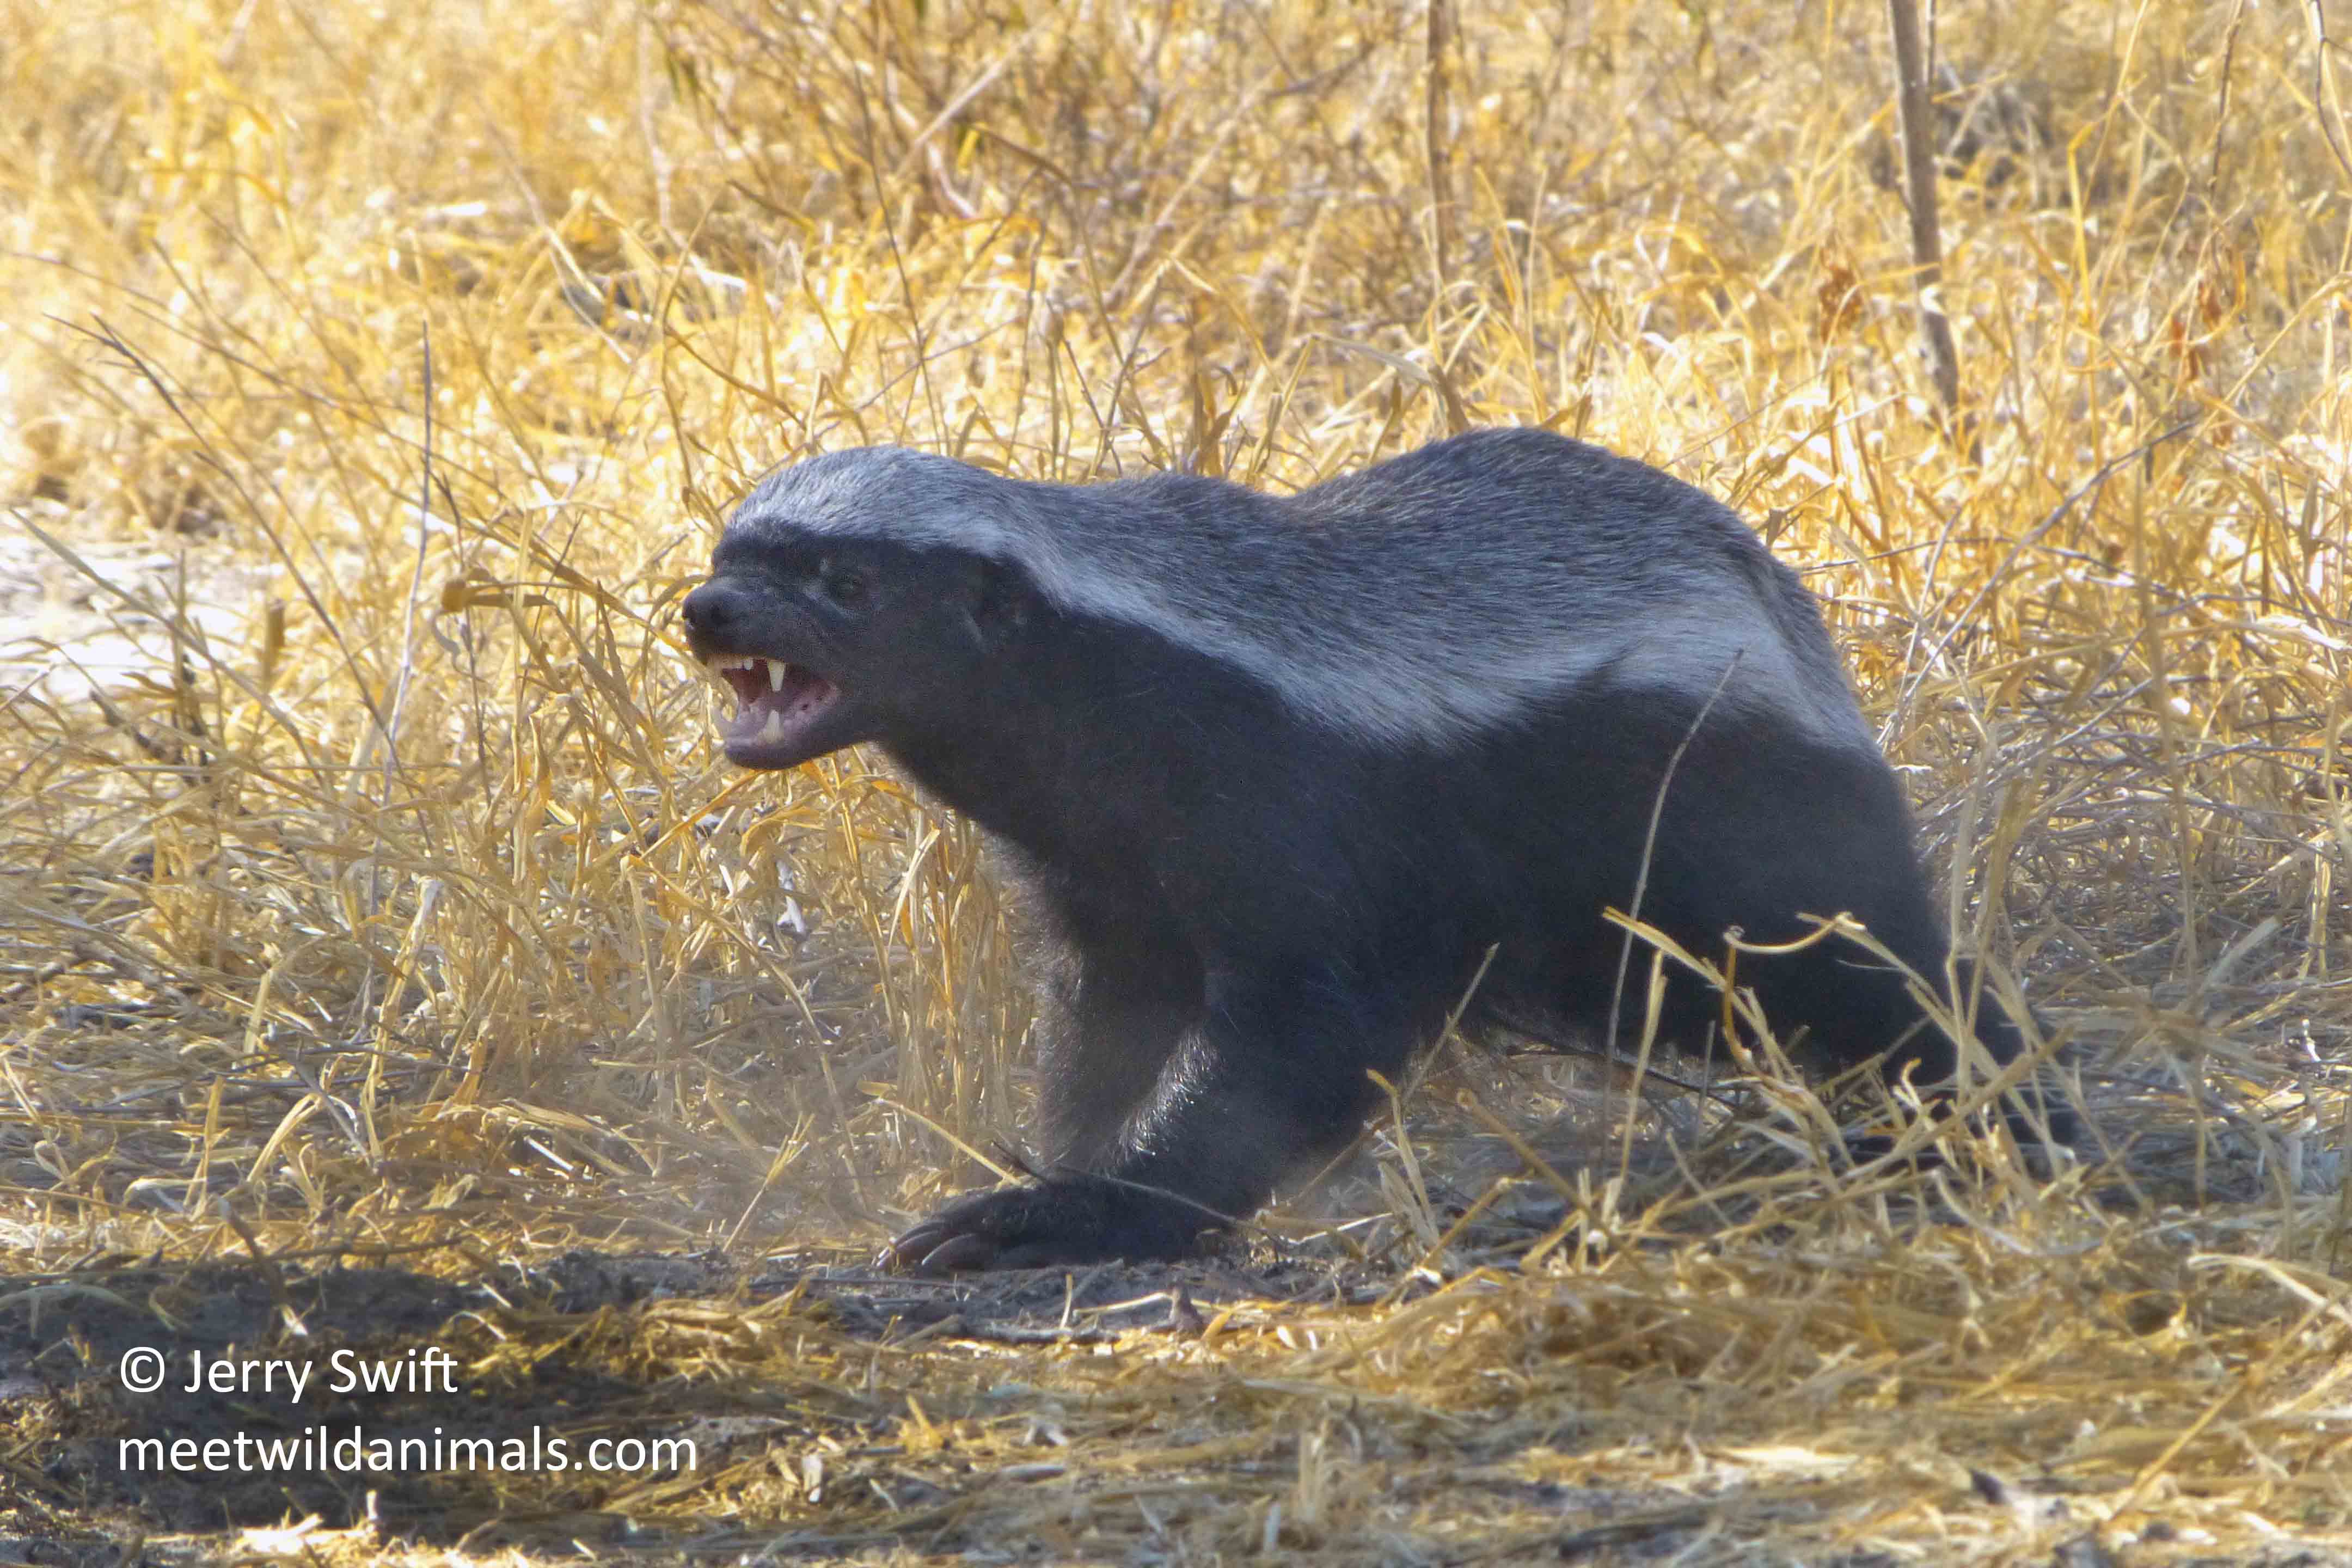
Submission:
[[[1044,1269],[1108,1258],[1185,1258],[1216,1215],[1098,1175],[1054,1175],[962,1197],[882,1248],[901,1274]]]

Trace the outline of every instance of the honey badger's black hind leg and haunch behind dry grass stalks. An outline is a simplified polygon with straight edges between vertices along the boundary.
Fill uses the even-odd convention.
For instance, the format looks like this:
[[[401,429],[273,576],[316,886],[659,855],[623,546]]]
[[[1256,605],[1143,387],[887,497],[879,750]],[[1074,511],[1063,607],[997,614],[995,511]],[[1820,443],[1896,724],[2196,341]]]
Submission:
[[[1726,933],[1738,931],[1748,947],[1736,959],[1733,983],[1755,992],[1773,1034],[1783,1041],[1804,1034],[1832,1072],[1879,1063],[1889,1081],[1907,1074],[1931,1110],[1952,1103],[1959,1051],[1919,1006],[1912,978],[1872,947],[1823,936],[1816,924],[1846,914],[1919,983],[1940,994],[1950,983],[1952,943],[1919,867],[1910,809],[1875,748],[1809,736],[1752,710],[1719,705],[1698,717],[1689,703],[1632,701],[1630,693],[1606,693],[1606,701],[1566,712],[1562,724],[1585,745],[1588,804],[1576,832],[1548,839],[1536,863],[1564,865],[1578,853],[1606,853],[1606,846],[1651,844],[1637,905],[1644,924],[1717,964]],[[1682,764],[1661,783],[1663,759],[1677,745]],[[1592,879],[1564,886],[1588,905],[1632,905],[1632,851],[1595,865]],[[1604,926],[1597,912],[1564,903],[1555,910],[1562,940],[1548,954],[1557,976],[1552,1009],[1604,1025],[1611,994],[1618,994],[1618,1032],[1637,1039],[1653,954],[1630,945],[1618,992],[1625,933]],[[1959,973],[1957,1013],[1969,1016],[1973,990],[1976,1039],[1994,1065],[2016,1060],[2025,1044],[2018,1027],[1990,987],[1973,985],[1966,964]],[[1661,1039],[1700,1048],[1722,1018],[1722,994],[1675,964],[1665,966],[1665,980]],[[2025,1098],[2039,1098],[2053,1143],[2074,1143],[2079,1128],[2067,1107],[2056,1095],[2034,1095],[2030,1084],[2004,1107],[2020,1143],[2042,1143],[2037,1117],[2016,1105]]]

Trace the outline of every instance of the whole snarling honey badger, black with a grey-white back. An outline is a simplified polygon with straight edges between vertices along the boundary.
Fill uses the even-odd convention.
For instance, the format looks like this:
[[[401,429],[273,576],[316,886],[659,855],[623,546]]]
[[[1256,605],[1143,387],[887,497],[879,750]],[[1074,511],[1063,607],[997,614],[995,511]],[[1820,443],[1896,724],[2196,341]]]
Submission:
[[[684,623],[736,691],[734,762],[877,743],[1051,926],[1044,1175],[938,1211],[901,1267],[1195,1248],[1343,1147],[1367,1070],[1395,1079],[1482,961],[1472,1023],[1602,1027],[1602,912],[1632,905],[1663,783],[1646,922],[1719,952],[1851,912],[1945,976],[1813,597],[1729,508],[1543,430],[1287,498],[837,451],[753,489]],[[1837,1067],[1955,1072],[1851,943],[1738,976]],[[1703,1041],[1717,1009],[1677,978],[1665,1037]],[[1990,997],[1978,1034],[2020,1044]]]

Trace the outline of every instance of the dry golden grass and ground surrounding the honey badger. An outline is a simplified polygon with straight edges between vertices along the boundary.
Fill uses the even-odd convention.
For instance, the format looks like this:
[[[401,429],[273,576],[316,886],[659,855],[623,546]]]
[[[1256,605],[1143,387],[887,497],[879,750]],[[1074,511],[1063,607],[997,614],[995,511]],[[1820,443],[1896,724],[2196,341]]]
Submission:
[[[0,1540],[2340,1561],[2326,12],[1943,7],[1947,416],[1879,7],[1470,2],[1432,59],[1338,2],[0,0]],[[1769,1053],[1632,1114],[1449,1051],[1225,1262],[861,1274],[1018,1126],[1018,952],[877,759],[715,755],[673,611],[729,501],[884,440],[1298,487],[1463,421],[1809,571],[2100,1143],[1856,1168]],[[115,1347],[329,1331],[461,1354],[379,1420],[701,1460],[108,1469],[256,1420]]]

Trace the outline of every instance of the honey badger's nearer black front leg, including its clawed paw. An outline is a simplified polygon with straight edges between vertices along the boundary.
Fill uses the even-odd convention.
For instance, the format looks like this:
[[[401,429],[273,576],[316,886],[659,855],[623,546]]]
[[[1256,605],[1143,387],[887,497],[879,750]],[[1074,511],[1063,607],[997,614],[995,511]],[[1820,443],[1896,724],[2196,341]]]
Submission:
[[[884,1260],[946,1274],[1197,1251],[1284,1175],[1348,1145],[1376,1093],[1367,1070],[1404,1067],[1430,1020],[1381,973],[1296,954],[1211,969],[1200,1020],[1112,1147],[957,1199],[891,1241]]]

